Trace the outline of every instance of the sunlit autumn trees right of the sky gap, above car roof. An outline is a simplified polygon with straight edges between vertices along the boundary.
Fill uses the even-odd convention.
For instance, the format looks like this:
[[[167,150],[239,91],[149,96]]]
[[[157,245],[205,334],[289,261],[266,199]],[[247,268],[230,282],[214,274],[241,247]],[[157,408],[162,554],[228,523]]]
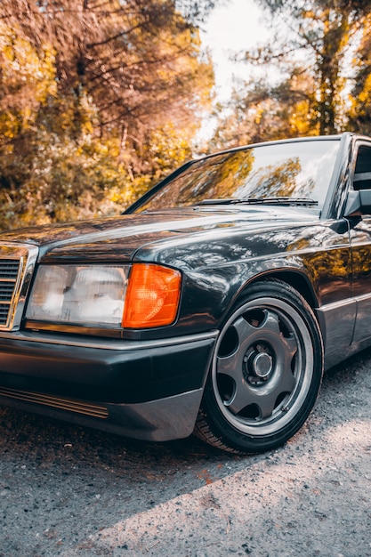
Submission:
[[[244,84],[235,93],[238,106],[245,112],[248,139],[354,129],[349,94],[354,87],[353,94],[358,95],[352,101],[355,116],[367,95],[371,5],[359,0],[258,2],[274,22],[274,33],[269,44],[258,45],[242,57],[253,67],[265,68],[269,76]],[[359,62],[358,76],[353,70],[354,55]],[[360,76],[364,86],[355,86],[362,81]],[[233,110],[236,104],[230,115]],[[226,124],[228,127],[222,119],[222,129]]]

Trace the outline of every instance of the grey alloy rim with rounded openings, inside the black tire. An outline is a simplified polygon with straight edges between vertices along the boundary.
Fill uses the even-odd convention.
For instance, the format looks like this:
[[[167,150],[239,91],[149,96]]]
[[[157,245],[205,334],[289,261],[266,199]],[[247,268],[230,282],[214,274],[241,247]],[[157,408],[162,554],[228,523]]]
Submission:
[[[304,404],[313,375],[311,332],[284,300],[245,303],[222,329],[212,384],[222,416],[238,432],[272,435]]]

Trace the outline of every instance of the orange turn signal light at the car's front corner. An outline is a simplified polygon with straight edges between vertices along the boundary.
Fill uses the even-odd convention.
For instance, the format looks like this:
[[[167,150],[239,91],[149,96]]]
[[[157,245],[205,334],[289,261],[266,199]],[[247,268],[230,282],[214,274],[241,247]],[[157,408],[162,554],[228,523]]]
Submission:
[[[134,263],[125,295],[122,326],[171,325],[181,297],[181,273],[154,263]]]

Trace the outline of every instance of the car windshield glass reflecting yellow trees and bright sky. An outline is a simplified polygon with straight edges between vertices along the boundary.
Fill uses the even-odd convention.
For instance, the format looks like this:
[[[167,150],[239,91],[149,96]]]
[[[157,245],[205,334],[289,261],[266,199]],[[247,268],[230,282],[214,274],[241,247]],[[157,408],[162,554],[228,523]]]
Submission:
[[[143,200],[136,212],[200,204],[257,202],[321,208],[335,166],[338,139],[285,141],[195,161]]]

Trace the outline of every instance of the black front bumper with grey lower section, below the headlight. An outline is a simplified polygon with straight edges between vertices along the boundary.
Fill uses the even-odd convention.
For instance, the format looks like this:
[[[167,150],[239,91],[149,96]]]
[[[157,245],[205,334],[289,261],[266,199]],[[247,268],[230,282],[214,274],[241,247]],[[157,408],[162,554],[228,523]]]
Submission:
[[[193,431],[216,331],[161,341],[0,336],[0,404],[171,440]]]

